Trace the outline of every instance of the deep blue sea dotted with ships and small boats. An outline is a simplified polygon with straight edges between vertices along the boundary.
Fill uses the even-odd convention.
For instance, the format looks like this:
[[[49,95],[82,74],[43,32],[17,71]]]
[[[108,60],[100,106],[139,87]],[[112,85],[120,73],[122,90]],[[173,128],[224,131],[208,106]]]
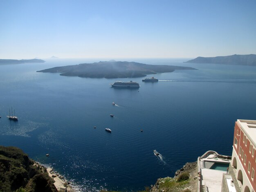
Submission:
[[[208,150],[231,156],[235,121],[256,120],[256,67],[122,59],[197,69],[148,75],[155,83],[36,72],[100,60],[0,65],[0,145],[53,167],[77,191],[137,192]],[[141,87],[111,87],[117,80]],[[11,107],[17,122],[6,117]]]

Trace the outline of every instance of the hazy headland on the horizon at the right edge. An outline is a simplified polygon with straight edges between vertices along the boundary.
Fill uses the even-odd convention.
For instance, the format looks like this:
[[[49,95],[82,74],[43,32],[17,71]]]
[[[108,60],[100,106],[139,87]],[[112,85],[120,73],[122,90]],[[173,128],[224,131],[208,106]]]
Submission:
[[[197,57],[184,63],[215,63],[225,65],[248,65],[256,66],[256,55],[231,55],[218,57]]]

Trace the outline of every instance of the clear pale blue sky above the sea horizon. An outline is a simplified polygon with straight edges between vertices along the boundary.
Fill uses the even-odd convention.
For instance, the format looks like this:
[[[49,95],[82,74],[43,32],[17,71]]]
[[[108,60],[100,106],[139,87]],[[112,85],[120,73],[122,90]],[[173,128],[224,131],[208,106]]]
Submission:
[[[0,0],[0,58],[256,54],[256,0]]]

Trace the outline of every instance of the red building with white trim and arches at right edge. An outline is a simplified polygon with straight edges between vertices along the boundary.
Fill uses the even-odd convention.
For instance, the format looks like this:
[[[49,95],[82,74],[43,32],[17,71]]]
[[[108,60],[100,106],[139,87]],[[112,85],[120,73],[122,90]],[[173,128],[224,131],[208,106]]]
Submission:
[[[237,120],[231,166],[242,192],[256,190],[256,121]]]

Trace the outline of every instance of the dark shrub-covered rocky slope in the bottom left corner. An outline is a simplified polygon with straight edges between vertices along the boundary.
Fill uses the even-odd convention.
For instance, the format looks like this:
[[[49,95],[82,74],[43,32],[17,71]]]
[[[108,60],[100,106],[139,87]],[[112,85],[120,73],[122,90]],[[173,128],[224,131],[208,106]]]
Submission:
[[[16,147],[0,146],[0,191],[57,192],[46,168]]]

